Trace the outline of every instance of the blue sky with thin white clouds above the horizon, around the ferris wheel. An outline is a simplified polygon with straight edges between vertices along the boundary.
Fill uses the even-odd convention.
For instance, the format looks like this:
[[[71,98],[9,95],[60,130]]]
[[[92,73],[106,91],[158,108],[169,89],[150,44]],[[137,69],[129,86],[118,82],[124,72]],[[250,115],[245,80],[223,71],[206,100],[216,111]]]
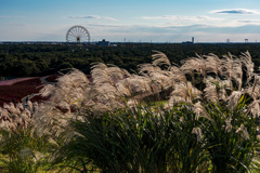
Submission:
[[[260,0],[0,0],[0,41],[260,42]]]

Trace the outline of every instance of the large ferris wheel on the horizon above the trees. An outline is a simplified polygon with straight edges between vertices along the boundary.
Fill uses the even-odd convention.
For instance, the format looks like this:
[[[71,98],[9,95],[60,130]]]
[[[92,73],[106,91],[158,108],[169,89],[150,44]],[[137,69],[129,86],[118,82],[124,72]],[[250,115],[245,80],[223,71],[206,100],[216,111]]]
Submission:
[[[83,26],[76,25],[67,30],[66,41],[70,43],[89,43],[90,34]]]

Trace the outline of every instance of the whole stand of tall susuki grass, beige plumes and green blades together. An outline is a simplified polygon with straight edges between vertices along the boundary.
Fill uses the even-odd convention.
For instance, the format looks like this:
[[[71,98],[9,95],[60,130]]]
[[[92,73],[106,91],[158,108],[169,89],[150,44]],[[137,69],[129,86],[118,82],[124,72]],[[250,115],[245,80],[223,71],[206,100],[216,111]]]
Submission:
[[[53,155],[43,152],[70,171],[259,171],[260,83],[249,52],[196,54],[177,65],[156,51],[139,68],[130,74],[93,64],[92,82],[72,69],[40,91],[42,104],[26,97],[5,105],[1,127],[11,139],[17,134],[24,141],[17,130],[29,125],[39,137],[60,138]],[[34,152],[27,146],[8,156],[21,149]]]

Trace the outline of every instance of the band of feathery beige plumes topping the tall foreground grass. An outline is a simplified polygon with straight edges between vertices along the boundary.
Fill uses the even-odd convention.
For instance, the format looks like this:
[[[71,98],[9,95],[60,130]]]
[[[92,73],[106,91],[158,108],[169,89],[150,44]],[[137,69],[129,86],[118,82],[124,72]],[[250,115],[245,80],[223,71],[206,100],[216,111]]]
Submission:
[[[48,129],[44,132],[60,134],[62,130],[58,127],[66,127],[67,120],[76,117],[81,108],[102,114],[134,106],[142,98],[165,91],[172,91],[168,95],[168,108],[178,103],[203,105],[205,102],[224,102],[226,107],[233,109],[240,96],[247,94],[252,101],[248,111],[259,115],[259,76],[253,72],[249,52],[238,57],[229,53],[222,58],[214,54],[196,54],[181,63],[181,66],[170,63],[158,51],[155,51],[151,64],[139,65],[139,75],[98,63],[92,66],[92,82],[81,71],[72,69],[57,78],[56,84],[47,84],[40,90],[39,94],[47,98],[42,104],[32,105],[29,97],[23,106],[5,104],[1,108],[1,124],[14,129],[17,125],[27,127],[34,121]]]

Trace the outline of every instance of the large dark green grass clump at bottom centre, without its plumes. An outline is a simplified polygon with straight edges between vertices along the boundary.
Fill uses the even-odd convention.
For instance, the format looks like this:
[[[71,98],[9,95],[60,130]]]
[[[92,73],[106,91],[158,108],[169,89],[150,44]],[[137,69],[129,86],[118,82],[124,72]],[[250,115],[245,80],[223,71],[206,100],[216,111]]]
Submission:
[[[76,136],[61,148],[57,161],[81,159],[104,172],[196,172],[208,147],[193,134],[197,124],[184,105],[158,112],[151,107],[82,112],[73,121]]]

